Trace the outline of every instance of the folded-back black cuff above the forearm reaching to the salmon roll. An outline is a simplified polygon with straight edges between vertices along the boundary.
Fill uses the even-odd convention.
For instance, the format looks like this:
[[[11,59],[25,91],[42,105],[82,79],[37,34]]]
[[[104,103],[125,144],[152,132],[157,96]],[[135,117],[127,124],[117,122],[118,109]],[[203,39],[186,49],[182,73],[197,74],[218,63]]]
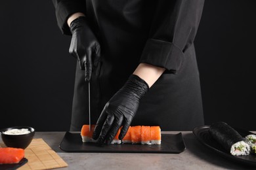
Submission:
[[[183,58],[181,48],[172,42],[149,39],[142,52],[140,63],[163,67],[171,73],[176,73],[181,67]]]

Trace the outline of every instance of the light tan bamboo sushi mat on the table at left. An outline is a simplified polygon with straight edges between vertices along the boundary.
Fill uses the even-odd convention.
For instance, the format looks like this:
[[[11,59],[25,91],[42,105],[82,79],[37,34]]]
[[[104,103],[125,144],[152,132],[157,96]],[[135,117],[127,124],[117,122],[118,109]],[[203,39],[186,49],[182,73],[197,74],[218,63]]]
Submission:
[[[2,143],[0,145],[5,146]],[[68,166],[43,139],[32,140],[32,143],[25,149],[25,158],[28,159],[28,163],[20,167],[20,170],[53,169]]]

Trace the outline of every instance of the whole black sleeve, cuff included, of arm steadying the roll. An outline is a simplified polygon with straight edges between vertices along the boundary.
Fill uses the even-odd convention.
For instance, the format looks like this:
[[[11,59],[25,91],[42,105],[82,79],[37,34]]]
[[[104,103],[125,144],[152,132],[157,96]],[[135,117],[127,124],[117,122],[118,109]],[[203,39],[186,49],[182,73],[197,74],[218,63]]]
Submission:
[[[194,42],[204,0],[157,1],[148,41],[140,63],[179,71],[184,52]]]

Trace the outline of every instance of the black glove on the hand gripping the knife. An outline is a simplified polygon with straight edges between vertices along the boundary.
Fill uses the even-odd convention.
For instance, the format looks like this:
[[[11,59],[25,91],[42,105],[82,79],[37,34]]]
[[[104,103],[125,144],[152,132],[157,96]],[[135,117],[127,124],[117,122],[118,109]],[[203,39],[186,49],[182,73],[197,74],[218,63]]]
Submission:
[[[80,68],[85,70],[85,80],[91,80],[93,66],[100,61],[100,44],[87,24],[86,18],[80,16],[70,24],[72,40],[70,54],[78,59]]]

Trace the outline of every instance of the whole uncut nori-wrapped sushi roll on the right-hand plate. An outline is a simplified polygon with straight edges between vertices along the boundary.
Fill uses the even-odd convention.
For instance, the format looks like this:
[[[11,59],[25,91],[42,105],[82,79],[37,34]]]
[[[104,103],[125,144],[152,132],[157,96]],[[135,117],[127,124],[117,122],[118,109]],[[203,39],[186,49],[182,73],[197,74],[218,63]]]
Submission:
[[[250,152],[250,146],[245,143],[245,139],[225,122],[212,124],[209,127],[209,133],[234,156],[248,155]]]

